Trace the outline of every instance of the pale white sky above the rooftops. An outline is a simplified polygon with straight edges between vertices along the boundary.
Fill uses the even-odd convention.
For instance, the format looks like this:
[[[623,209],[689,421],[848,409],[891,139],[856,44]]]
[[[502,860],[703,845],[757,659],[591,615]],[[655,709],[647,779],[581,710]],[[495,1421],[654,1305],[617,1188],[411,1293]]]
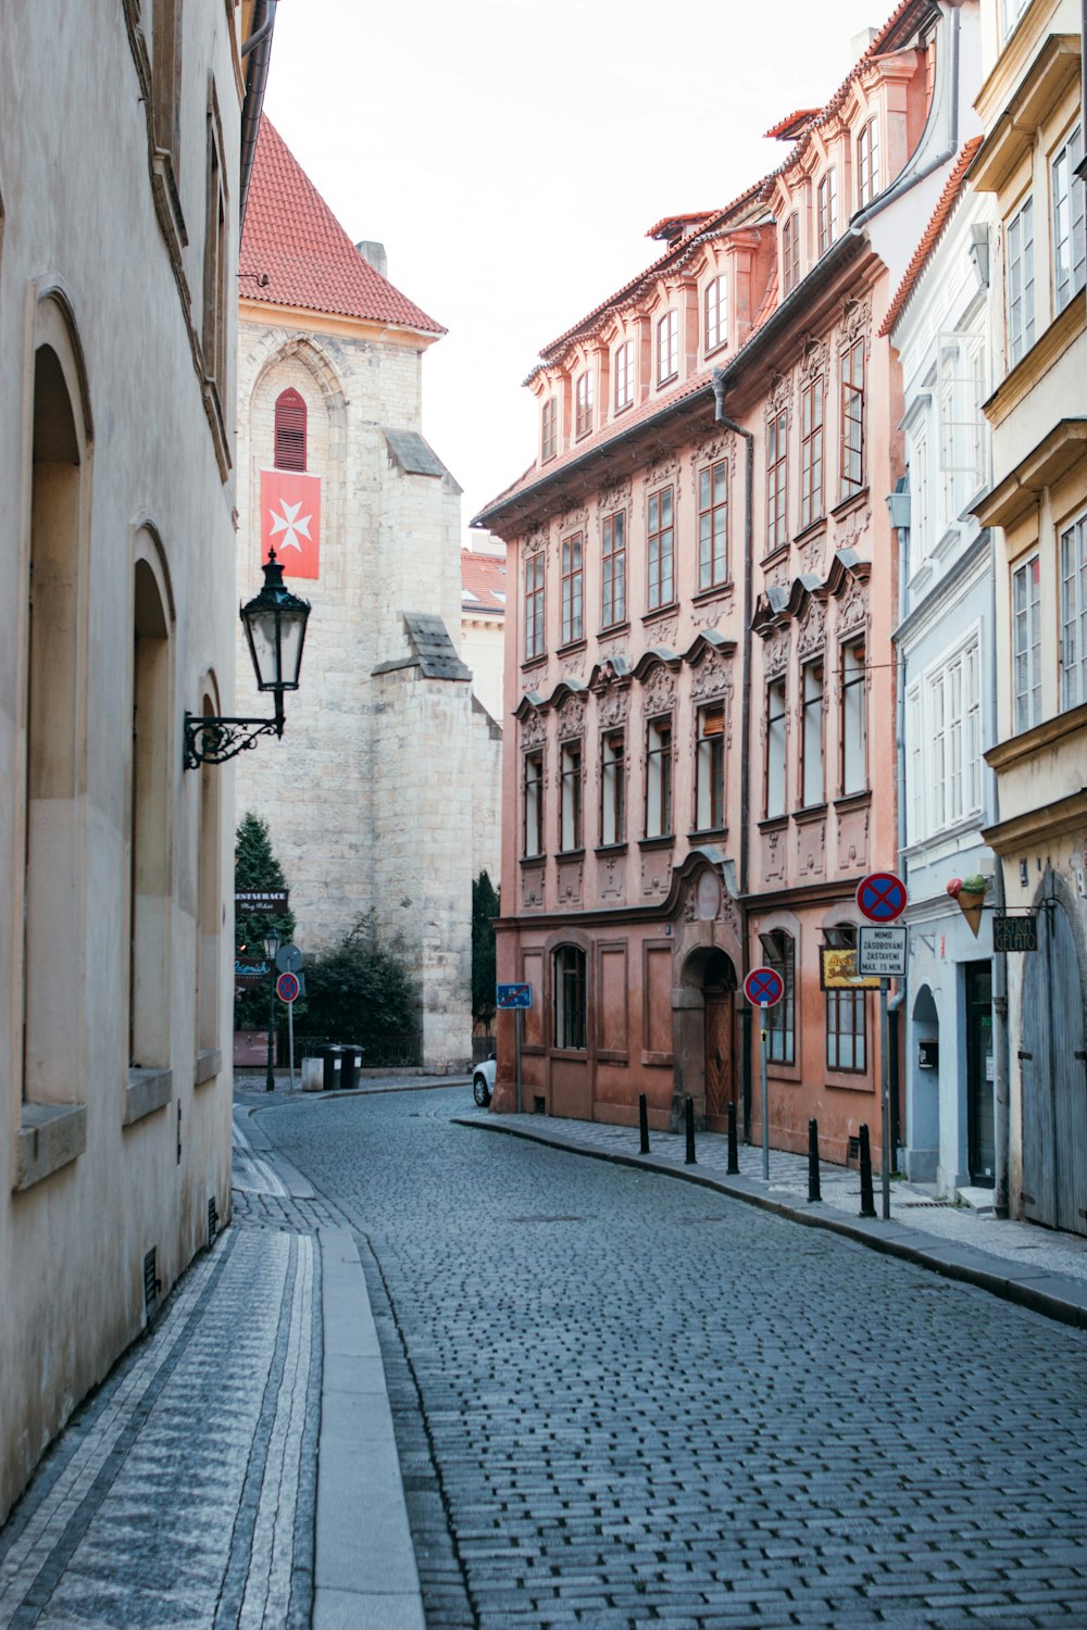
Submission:
[[[539,347],[728,204],[763,132],[846,78],[891,0],[280,0],[266,112],[341,223],[448,334],[424,435],[463,523],[533,461]],[[474,543],[479,535],[466,533]]]

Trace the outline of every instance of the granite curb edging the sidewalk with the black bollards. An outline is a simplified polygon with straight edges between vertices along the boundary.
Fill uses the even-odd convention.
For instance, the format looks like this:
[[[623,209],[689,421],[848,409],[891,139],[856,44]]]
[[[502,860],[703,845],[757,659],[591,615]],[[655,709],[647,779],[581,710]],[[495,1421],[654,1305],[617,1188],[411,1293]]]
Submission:
[[[525,1120],[526,1117],[518,1117]],[[1032,1312],[1045,1314],[1061,1324],[1087,1330],[1087,1284],[1066,1278],[1059,1273],[1046,1273],[1020,1268],[975,1245],[953,1244],[937,1239],[921,1229],[913,1229],[900,1221],[882,1221],[880,1218],[851,1219],[847,1214],[828,1211],[820,1201],[794,1205],[768,1193],[764,1182],[753,1177],[720,1177],[698,1165],[676,1165],[675,1161],[663,1161],[652,1154],[626,1152],[619,1149],[598,1148],[577,1133],[557,1131],[554,1121],[544,1126],[510,1125],[497,1115],[455,1115],[456,1126],[471,1126],[481,1131],[504,1133],[512,1138],[525,1138],[531,1143],[549,1144],[569,1154],[585,1154],[595,1161],[610,1161],[613,1165],[631,1165],[644,1172],[658,1172],[663,1177],[678,1177],[681,1182],[712,1188],[742,1200],[745,1205],[758,1206],[774,1216],[787,1218],[805,1227],[825,1229],[843,1239],[851,1239],[870,1250],[878,1250],[888,1257],[913,1262],[950,1280],[960,1280],[1004,1301],[1028,1307]]]

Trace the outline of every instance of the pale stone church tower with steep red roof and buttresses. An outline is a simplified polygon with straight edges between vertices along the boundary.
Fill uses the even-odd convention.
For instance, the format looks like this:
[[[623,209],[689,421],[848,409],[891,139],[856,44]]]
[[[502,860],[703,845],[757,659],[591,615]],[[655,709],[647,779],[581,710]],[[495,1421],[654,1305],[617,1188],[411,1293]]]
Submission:
[[[238,587],[279,540],[313,613],[287,735],[246,755],[238,808],[267,820],[303,950],[372,914],[404,952],[417,1058],[442,1071],[471,1056],[474,751],[500,743],[460,654],[460,487],[422,437],[443,329],[385,264],[266,121],[241,254]],[[308,481],[282,489],[305,497],[303,536],[269,531],[284,478]]]

